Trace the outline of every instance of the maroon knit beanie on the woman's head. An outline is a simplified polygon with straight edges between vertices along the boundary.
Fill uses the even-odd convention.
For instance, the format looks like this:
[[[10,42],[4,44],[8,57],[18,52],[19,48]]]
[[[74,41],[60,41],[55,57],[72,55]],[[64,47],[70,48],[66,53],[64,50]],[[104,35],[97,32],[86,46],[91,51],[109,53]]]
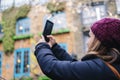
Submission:
[[[103,18],[92,25],[91,31],[104,46],[120,49],[119,19]]]

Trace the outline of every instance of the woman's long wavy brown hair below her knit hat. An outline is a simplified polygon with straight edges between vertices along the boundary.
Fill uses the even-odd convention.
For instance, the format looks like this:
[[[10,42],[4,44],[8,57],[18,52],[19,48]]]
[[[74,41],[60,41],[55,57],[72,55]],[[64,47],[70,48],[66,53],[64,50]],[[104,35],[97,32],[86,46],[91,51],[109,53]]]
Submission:
[[[110,64],[120,64],[120,49],[108,48],[104,46],[96,37],[89,45],[88,53],[95,54],[97,57]]]

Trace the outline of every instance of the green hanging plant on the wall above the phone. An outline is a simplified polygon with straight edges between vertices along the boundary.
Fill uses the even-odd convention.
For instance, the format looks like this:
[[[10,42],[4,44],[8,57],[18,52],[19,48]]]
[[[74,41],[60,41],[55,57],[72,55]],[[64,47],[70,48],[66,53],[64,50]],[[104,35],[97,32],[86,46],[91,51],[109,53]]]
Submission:
[[[47,9],[50,11],[50,13],[56,13],[59,11],[64,11],[65,9],[65,2],[57,2],[57,3],[52,3],[49,2],[47,4]]]

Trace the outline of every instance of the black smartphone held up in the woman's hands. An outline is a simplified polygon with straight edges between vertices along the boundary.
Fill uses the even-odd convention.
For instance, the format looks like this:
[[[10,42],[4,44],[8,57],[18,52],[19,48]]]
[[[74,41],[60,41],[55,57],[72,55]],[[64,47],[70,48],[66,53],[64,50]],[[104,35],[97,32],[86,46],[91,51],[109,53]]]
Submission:
[[[49,42],[49,38],[47,38],[47,35],[50,35],[52,33],[53,25],[54,23],[51,22],[50,20],[46,21],[46,24],[43,30],[43,36],[46,42]]]

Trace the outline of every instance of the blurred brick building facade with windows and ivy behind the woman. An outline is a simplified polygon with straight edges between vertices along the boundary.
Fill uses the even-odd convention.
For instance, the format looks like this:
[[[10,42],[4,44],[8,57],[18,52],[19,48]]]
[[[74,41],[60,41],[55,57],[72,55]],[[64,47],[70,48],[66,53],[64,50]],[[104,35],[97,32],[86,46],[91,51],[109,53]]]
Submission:
[[[90,26],[104,17],[120,17],[120,0],[0,0],[0,79],[50,80],[34,56],[46,20],[57,43],[80,60]]]

